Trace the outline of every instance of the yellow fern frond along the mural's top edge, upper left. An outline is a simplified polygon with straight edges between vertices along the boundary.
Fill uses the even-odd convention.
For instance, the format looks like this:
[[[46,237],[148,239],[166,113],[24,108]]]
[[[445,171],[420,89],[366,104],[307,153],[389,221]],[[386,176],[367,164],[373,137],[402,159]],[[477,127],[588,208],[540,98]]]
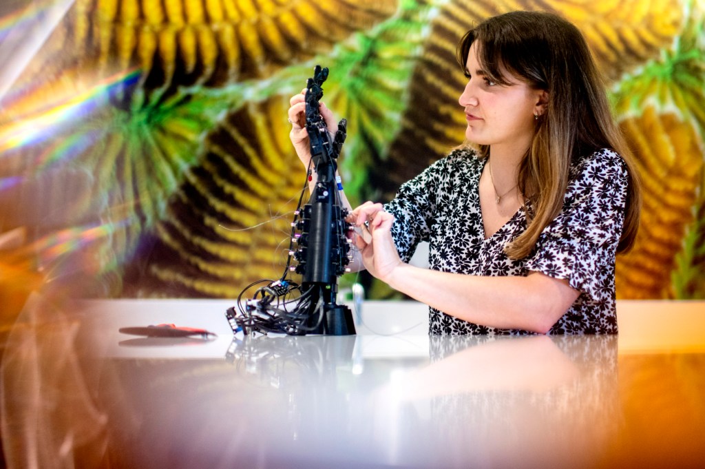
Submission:
[[[138,90],[221,87],[328,51],[396,8],[396,0],[77,0],[24,79],[139,70]]]

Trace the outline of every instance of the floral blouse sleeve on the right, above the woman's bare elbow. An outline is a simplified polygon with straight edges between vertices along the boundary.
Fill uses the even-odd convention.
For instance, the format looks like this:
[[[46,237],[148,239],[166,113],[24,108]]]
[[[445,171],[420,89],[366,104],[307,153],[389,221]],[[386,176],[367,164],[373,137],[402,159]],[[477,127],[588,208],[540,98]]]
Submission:
[[[563,209],[539,236],[525,268],[568,279],[589,303],[610,301],[628,181],[625,162],[611,150],[575,164]]]

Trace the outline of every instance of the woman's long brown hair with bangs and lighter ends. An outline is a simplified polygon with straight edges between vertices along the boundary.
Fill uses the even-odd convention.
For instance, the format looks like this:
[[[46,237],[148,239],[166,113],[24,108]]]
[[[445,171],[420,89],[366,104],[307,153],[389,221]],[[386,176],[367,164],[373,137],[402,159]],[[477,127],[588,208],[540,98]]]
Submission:
[[[484,73],[508,85],[506,71],[536,90],[548,92],[546,112],[539,117],[529,150],[523,157],[518,187],[531,202],[527,229],[505,248],[510,257],[526,257],[541,231],[563,207],[570,163],[587,152],[614,150],[629,173],[625,221],[618,252],[634,244],[641,195],[632,154],[615,123],[603,80],[580,30],[551,13],[514,11],[489,18],[468,31],[458,44],[463,70],[470,47],[477,42]],[[477,145],[480,157],[488,145]]]

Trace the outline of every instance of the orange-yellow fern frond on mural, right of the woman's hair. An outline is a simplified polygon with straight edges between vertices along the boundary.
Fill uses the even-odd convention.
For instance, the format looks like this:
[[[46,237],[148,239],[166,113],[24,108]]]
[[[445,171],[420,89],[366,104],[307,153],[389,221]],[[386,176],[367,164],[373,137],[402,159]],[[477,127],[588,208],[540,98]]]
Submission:
[[[637,157],[644,205],[635,248],[620,258],[615,283],[621,298],[672,298],[670,274],[703,171],[699,140],[692,126],[654,107],[621,126]]]

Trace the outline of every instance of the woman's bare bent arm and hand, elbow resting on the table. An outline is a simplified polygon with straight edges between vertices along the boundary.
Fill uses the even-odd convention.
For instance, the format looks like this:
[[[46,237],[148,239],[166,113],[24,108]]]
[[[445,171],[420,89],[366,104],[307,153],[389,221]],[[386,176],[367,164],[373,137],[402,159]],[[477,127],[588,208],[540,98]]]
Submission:
[[[474,324],[545,334],[580,292],[568,280],[528,276],[475,276],[423,269],[399,258],[391,237],[392,214],[359,207],[357,224],[368,221],[372,242],[358,236],[362,262],[376,278],[422,303]]]

